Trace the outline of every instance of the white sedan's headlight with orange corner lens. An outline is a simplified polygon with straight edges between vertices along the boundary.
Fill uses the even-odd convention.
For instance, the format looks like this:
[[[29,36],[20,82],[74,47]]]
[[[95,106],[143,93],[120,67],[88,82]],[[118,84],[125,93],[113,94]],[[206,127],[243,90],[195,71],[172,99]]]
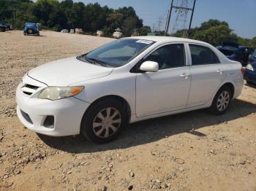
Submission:
[[[81,87],[45,87],[42,92],[39,93],[38,98],[41,99],[50,99],[50,100],[58,100],[62,98],[69,98],[71,96],[77,95],[83,90],[83,86]]]

